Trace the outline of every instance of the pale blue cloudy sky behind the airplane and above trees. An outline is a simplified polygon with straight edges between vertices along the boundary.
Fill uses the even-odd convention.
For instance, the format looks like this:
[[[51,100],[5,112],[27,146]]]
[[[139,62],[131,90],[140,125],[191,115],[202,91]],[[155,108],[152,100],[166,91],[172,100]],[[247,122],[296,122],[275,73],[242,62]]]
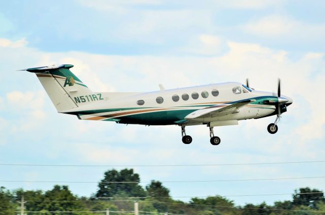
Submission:
[[[324,160],[325,2],[323,1],[2,1],[0,2],[0,163],[155,165]],[[146,92],[245,82],[294,103],[282,115],[215,128],[119,125],[56,113],[34,66],[73,64],[91,90]],[[121,169],[123,167],[117,167]],[[1,166],[0,181],[102,180],[108,167]],[[323,163],[135,167],[141,180],[241,180],[325,176]],[[163,183],[172,196],[293,193],[325,190],[324,178]],[[54,183],[0,182],[13,190],[48,190]],[[78,196],[97,184],[73,184]],[[143,186],[146,183],[142,184]],[[290,195],[229,197],[237,205],[272,204]],[[188,201],[189,198],[178,198]]]

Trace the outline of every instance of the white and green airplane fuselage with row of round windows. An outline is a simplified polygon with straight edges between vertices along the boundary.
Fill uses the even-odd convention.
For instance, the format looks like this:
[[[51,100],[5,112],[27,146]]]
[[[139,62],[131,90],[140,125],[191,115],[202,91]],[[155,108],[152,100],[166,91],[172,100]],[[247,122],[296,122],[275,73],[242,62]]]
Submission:
[[[234,87],[240,87],[241,92],[235,94]],[[218,95],[213,96],[212,91],[218,90]],[[244,92],[245,90],[245,92]],[[202,92],[206,92],[207,96],[203,97]],[[192,93],[197,93],[197,99],[192,98]],[[188,95],[188,99],[182,98],[183,94]],[[176,95],[176,96],[175,96]],[[84,95],[86,96],[86,95]],[[178,100],[172,98],[178,96]],[[80,116],[84,120],[109,120],[125,124],[142,124],[142,125],[173,125],[183,124],[182,120],[189,119],[190,124],[206,124],[215,121],[245,120],[257,119],[266,116],[276,115],[276,106],[273,104],[265,104],[264,100],[277,98],[273,93],[246,90],[241,83],[229,82],[221,84],[209,84],[196,87],[177,88],[170,90],[159,90],[146,93],[102,93],[104,98],[101,104],[91,104],[91,100],[87,101],[88,105],[82,106],[81,109],[75,109],[69,114],[84,112],[85,115]],[[156,98],[163,98],[163,102],[157,103]],[[282,96],[283,97],[283,96]],[[185,99],[187,96],[185,97]],[[291,100],[288,97],[289,101]],[[199,109],[206,109],[210,106],[225,106],[231,102],[245,99],[257,99],[238,110],[225,116],[215,116],[209,118],[190,119],[187,116]],[[79,98],[80,102],[81,99]],[[139,105],[137,101],[143,100],[144,104]],[[78,100],[77,100],[78,102]],[[77,103],[78,104],[78,103]],[[99,113],[93,113],[90,110],[102,110]],[[87,112],[90,111],[90,112]],[[64,112],[63,112],[64,113]],[[67,113],[67,112],[66,112]],[[186,118],[187,117],[187,118]],[[184,124],[186,122],[184,121]]]

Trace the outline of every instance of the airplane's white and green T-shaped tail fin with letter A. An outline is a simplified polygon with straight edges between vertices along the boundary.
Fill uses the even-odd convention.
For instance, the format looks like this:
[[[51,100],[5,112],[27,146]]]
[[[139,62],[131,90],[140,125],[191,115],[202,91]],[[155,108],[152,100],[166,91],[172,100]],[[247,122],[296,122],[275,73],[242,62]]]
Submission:
[[[26,69],[36,74],[58,112],[103,100],[101,94],[94,94],[70,71],[71,67],[62,64]]]

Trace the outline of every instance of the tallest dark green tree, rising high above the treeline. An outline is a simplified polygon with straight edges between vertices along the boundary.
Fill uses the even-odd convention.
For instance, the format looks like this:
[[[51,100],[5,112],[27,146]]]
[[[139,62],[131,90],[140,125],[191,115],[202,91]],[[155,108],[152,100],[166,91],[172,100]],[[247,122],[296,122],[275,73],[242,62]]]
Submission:
[[[135,182],[135,183],[107,183],[107,182]],[[113,197],[125,193],[132,197],[145,197],[146,192],[139,185],[139,174],[134,173],[133,169],[115,169],[106,171],[104,179],[99,183],[99,190],[96,197]]]

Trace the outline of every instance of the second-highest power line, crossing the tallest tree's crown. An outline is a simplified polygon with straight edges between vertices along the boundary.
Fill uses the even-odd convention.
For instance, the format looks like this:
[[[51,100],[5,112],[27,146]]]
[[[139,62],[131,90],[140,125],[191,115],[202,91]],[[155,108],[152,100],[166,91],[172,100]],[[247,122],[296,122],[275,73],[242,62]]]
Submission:
[[[230,179],[230,180],[191,180],[191,181],[161,181],[161,183],[194,183],[194,182],[247,182],[247,181],[276,181],[276,180],[296,180],[307,178],[325,178],[325,176],[309,177],[279,177],[279,178],[250,178],[250,179]],[[77,182],[77,181],[21,181],[21,180],[0,180],[0,182],[22,182],[22,183],[102,183],[102,184],[139,184],[151,182]]]

